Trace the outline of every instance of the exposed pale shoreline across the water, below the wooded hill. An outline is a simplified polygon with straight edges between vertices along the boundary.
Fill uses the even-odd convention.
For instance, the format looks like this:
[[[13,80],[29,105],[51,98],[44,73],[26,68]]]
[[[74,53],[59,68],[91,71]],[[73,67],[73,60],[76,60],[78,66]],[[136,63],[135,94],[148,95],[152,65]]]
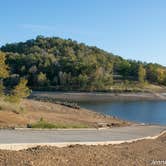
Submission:
[[[33,91],[30,98],[51,98],[69,102],[166,101],[165,93],[103,93],[103,92],[47,92]]]

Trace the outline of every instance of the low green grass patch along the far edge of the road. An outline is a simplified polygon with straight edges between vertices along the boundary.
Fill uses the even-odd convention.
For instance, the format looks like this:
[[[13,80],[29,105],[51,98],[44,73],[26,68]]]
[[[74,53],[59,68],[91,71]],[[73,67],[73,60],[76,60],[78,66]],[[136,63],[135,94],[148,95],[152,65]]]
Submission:
[[[40,128],[40,129],[88,128],[88,125],[84,125],[84,124],[55,124],[55,123],[47,122],[47,121],[43,120],[43,118],[40,118],[40,120],[37,121],[36,123],[27,124],[27,128]]]

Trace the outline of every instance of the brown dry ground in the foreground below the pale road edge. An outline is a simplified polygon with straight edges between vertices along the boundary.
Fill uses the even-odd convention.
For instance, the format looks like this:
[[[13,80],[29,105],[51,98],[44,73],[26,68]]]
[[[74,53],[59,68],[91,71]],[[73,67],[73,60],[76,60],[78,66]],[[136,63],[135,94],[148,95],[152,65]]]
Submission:
[[[166,134],[156,140],[106,146],[36,147],[21,151],[0,150],[6,166],[150,166],[166,162]],[[162,164],[161,164],[162,165]]]

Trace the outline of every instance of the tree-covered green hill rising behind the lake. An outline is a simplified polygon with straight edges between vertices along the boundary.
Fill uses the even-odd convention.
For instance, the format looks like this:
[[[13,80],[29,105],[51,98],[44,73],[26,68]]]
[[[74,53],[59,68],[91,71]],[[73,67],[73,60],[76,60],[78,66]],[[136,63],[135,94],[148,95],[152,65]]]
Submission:
[[[7,86],[20,77],[26,77],[34,89],[109,90],[126,82],[166,85],[166,68],[161,65],[125,60],[71,39],[38,36],[6,44],[1,51],[6,53],[11,71]]]

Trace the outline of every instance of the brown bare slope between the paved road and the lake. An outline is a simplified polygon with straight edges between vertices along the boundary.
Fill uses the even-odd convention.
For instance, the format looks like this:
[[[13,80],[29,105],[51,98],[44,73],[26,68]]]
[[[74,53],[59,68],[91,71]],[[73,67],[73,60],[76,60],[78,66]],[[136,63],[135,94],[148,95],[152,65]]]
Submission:
[[[15,107],[15,106],[12,106]],[[126,126],[131,123],[111,116],[105,116],[85,109],[74,109],[49,102],[23,100],[20,107],[23,112],[16,113],[11,106],[0,110],[0,128],[26,127],[29,123],[44,120],[65,125],[86,125],[87,127]]]

